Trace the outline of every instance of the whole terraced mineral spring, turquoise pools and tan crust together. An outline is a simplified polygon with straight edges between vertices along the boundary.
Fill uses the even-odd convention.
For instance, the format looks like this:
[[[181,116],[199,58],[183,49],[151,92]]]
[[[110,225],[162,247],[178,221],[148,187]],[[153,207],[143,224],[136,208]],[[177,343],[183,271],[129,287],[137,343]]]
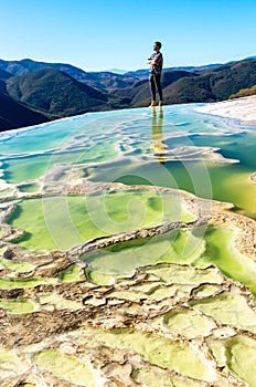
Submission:
[[[1,386],[256,386],[256,127],[201,105],[0,134]]]

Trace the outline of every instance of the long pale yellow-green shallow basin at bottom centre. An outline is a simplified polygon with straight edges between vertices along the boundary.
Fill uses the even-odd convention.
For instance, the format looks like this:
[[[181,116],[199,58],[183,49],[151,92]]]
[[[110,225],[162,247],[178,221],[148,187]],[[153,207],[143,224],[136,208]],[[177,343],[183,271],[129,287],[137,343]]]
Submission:
[[[214,375],[212,366],[189,344],[175,342],[160,335],[136,330],[85,330],[100,345],[111,348],[134,351],[147,362],[160,367],[168,367],[189,377],[211,380]]]

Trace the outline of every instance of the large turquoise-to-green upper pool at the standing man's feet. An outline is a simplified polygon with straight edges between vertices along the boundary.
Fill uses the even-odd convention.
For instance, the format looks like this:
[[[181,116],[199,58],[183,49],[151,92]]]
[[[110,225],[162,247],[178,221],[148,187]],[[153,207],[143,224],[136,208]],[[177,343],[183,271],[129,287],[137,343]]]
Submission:
[[[99,112],[2,133],[2,177],[34,182],[56,165],[79,165],[81,176],[94,181],[181,188],[255,218],[256,127],[196,106],[164,106],[154,115],[151,108]],[[214,155],[237,163],[213,163]]]

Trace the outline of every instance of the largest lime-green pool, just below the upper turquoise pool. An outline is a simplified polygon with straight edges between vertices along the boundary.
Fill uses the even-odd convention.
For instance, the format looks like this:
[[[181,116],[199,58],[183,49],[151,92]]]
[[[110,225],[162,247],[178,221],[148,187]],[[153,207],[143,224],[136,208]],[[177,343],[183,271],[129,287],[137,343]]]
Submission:
[[[194,216],[179,196],[131,190],[25,199],[8,222],[25,230],[17,241],[24,248],[66,250],[94,238],[181,219]]]

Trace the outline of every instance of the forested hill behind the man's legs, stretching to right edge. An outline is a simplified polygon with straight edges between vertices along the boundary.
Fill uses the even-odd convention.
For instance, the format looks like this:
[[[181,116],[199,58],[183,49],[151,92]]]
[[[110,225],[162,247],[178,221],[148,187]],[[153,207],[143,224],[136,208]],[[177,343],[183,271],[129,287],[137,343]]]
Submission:
[[[162,74],[164,104],[216,102],[227,100],[241,88],[256,84],[256,60],[233,62],[200,72],[170,71]],[[148,80],[116,90],[111,107],[139,107],[150,104]]]

